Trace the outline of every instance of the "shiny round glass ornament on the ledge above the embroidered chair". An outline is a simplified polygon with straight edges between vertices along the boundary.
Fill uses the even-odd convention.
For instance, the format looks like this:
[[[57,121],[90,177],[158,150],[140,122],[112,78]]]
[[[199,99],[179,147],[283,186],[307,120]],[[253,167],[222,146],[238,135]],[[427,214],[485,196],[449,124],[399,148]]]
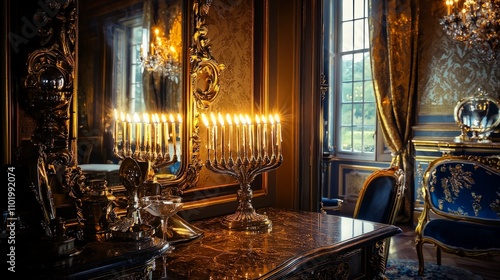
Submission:
[[[461,135],[455,142],[491,142],[490,134],[500,124],[500,100],[479,89],[476,94],[462,98],[454,110]]]

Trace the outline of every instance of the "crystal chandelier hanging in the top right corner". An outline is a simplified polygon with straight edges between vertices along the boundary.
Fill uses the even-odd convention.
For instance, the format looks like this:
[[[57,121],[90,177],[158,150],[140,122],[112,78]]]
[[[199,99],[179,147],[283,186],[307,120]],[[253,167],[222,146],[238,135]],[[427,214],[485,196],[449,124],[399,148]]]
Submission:
[[[440,20],[446,34],[487,60],[500,51],[500,0],[446,0],[448,14]]]

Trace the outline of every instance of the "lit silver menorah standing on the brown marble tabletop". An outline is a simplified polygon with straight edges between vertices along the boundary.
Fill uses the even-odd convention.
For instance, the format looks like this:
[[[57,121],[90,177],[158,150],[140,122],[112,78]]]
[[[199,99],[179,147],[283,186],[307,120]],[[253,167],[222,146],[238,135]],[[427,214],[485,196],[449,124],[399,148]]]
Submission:
[[[254,120],[252,122],[248,115],[231,117],[227,114],[229,132],[226,134],[225,121],[220,113],[218,119],[211,114],[211,124],[202,114],[207,127],[205,166],[212,172],[236,178],[240,184],[238,208],[222,220],[230,230],[262,231],[272,227],[272,221],[266,215],[255,212],[251,183],[257,175],[273,171],[282,164],[281,123],[277,115],[256,115]]]

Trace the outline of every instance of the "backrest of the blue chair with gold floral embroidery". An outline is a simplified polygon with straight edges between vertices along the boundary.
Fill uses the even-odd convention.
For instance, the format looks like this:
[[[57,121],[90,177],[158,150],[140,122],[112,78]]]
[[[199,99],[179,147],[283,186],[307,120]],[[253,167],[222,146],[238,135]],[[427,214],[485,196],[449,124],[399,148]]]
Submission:
[[[444,156],[424,173],[425,205],[439,216],[477,222],[500,220],[500,158]]]

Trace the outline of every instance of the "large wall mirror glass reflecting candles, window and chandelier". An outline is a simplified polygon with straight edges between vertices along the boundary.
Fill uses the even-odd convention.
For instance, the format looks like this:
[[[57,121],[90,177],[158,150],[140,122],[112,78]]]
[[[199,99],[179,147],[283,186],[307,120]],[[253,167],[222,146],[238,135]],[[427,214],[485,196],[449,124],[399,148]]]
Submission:
[[[154,157],[160,183],[182,179],[191,154],[185,140],[191,118],[183,118],[189,116],[190,98],[188,2],[79,2],[77,154],[82,170],[88,164],[117,170],[124,155],[142,151]]]

